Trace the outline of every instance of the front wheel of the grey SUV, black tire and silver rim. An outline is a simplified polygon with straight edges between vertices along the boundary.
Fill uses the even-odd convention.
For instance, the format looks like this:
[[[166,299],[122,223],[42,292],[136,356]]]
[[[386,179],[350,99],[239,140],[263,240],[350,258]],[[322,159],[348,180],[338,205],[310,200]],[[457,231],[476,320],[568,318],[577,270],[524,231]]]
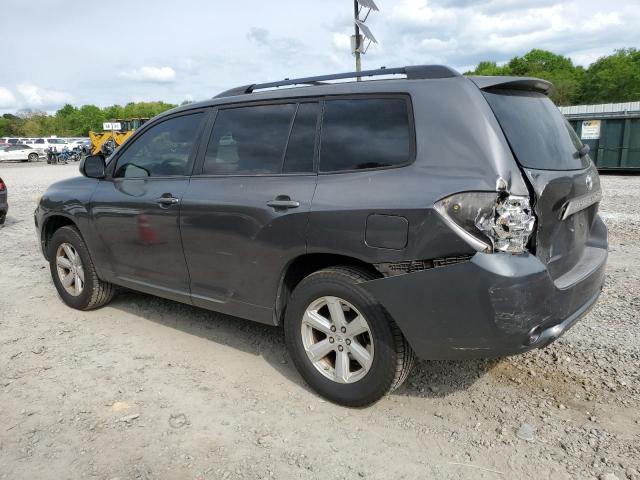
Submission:
[[[65,246],[71,247],[71,250],[78,255],[80,258],[81,270],[83,271],[84,281],[80,282],[81,288],[78,292],[77,290],[73,293],[70,293],[67,288],[74,290],[74,287],[77,285],[78,278],[81,276],[78,275],[77,278],[74,278],[74,283],[68,287],[63,285],[63,280],[61,278],[61,273],[59,273],[59,266],[62,264],[59,263],[59,253],[67,252]],[[61,227],[53,234],[53,237],[49,241],[47,255],[49,258],[49,267],[51,270],[51,278],[53,279],[53,284],[58,291],[58,294],[68,306],[75,308],[77,310],[93,310],[95,308],[102,307],[111,301],[115,294],[115,286],[103,282],[98,278],[93,262],[91,261],[91,257],[89,256],[89,250],[87,249],[80,232],[76,227],[65,226]],[[65,266],[68,266],[69,259],[72,259],[73,256],[64,253],[67,259],[67,263]],[[64,259],[65,257],[63,257]],[[71,270],[67,269],[65,266],[61,266],[66,272],[69,270],[69,274],[71,274]],[[80,270],[76,266],[76,270]],[[66,276],[65,278],[68,278]]]

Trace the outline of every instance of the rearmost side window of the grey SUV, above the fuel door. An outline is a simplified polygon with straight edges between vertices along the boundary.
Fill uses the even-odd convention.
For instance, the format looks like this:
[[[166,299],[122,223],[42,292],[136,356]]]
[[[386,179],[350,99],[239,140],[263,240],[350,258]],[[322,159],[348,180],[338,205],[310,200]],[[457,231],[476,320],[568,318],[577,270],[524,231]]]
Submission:
[[[327,100],[320,170],[337,172],[402,165],[410,161],[407,101],[397,98]]]

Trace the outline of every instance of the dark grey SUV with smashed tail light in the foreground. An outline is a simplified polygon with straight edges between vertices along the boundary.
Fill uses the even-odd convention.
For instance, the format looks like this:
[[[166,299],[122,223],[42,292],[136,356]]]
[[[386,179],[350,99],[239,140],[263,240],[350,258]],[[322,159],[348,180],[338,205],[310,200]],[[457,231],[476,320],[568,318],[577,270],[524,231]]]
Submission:
[[[302,377],[347,406],[402,384],[416,354],[547,346],[607,259],[598,172],[550,83],[358,75],[390,74],[407,78],[232,89],[87,157],[35,212],[62,300],[97,308],[119,285],[284,325]]]

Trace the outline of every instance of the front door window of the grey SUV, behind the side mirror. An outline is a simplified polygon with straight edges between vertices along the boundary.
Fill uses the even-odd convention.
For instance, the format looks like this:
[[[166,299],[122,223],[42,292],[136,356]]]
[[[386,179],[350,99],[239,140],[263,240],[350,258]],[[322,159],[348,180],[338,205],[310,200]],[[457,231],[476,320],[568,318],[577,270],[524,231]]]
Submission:
[[[114,177],[187,175],[202,113],[165,120],[144,132],[120,155]]]

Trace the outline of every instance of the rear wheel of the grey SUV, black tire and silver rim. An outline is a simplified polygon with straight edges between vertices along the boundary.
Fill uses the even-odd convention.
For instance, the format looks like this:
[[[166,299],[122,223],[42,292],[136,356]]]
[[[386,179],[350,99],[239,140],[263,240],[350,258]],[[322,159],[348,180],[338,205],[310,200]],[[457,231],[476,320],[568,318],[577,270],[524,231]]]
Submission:
[[[358,285],[375,278],[370,273],[354,267],[332,267],[320,270],[300,282],[293,291],[286,308],[285,340],[289,355],[298,372],[320,395],[347,407],[370,405],[398,388],[406,380],[415,360],[413,350],[384,307]],[[310,331],[310,327],[307,320],[303,320],[303,317],[309,318],[306,316],[307,309],[321,314],[324,322],[327,317],[331,317],[328,308],[330,304],[335,308],[335,300],[333,300],[335,298],[339,300],[342,307],[342,316],[347,317],[347,328],[351,329],[353,316],[359,315],[365,318],[369,329],[367,333],[349,337],[349,330],[346,330],[344,335],[339,335],[336,331],[327,334],[324,338],[322,336],[325,335],[324,333],[312,327],[312,334],[309,336],[307,332]],[[316,307],[323,305],[324,299],[329,299],[329,303],[315,310]],[[349,338],[351,343],[347,343]],[[343,353],[340,354],[336,349],[319,362],[313,362],[310,358],[311,354],[307,353],[309,343],[312,346],[323,343],[324,347],[329,347],[324,343],[325,340],[331,341],[332,346],[337,345],[336,348],[343,346],[340,350]],[[355,350],[353,350],[354,347],[362,347],[365,343],[370,354],[368,358],[372,357],[368,370],[362,366],[362,363],[356,361]],[[349,358],[346,363],[347,374],[339,375],[338,370],[344,371],[344,369],[338,368],[337,356],[344,355],[347,351]],[[340,365],[344,365],[344,361],[340,362]],[[354,365],[356,373],[350,371]],[[362,369],[358,370],[359,367]],[[341,380],[336,380],[339,377]]]

